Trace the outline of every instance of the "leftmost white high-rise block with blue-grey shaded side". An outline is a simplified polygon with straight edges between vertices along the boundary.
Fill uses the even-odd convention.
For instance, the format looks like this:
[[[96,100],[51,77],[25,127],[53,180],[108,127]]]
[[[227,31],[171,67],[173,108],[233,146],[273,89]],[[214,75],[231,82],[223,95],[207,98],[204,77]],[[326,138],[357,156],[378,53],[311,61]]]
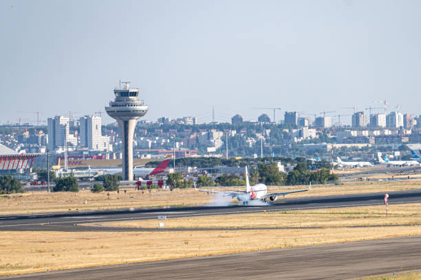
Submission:
[[[64,147],[65,141],[76,147],[78,141],[73,135],[69,135],[69,118],[56,116],[48,118],[48,148],[55,150]]]

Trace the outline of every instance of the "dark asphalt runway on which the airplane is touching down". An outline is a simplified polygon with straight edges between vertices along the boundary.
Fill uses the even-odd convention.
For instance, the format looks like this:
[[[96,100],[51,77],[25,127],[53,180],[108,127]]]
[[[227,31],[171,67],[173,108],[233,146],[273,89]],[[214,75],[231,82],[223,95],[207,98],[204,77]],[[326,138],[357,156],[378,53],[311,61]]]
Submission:
[[[230,207],[173,207],[160,209],[118,209],[105,211],[79,211],[69,213],[48,213],[39,215],[0,216],[0,231],[135,231],[135,229],[79,226],[90,222],[112,222],[124,220],[194,217],[202,215],[226,215],[238,213],[259,213],[296,209],[320,209],[382,205],[384,193],[349,194],[344,196],[317,196],[310,198],[282,199],[273,205],[230,206]],[[421,189],[389,192],[389,204],[421,202]],[[142,229],[136,229],[141,231]],[[160,231],[150,229],[148,231]]]

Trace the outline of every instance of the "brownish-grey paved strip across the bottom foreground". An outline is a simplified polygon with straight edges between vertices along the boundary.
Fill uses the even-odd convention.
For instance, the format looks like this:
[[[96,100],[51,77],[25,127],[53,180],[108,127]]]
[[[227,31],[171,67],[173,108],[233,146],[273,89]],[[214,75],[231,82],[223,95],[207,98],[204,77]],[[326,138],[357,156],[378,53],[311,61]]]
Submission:
[[[421,237],[61,270],[4,279],[354,279],[421,268]],[[1,278],[1,277],[0,277]]]

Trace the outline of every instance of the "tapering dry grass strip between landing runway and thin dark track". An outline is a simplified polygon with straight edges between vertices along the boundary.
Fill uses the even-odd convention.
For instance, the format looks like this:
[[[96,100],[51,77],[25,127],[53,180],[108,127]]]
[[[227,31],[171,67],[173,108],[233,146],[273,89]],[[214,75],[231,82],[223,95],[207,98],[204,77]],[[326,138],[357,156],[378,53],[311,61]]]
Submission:
[[[314,209],[305,211],[274,211],[246,213],[239,215],[210,215],[200,217],[169,218],[166,228],[193,229],[247,229],[277,227],[343,227],[373,226],[393,224],[421,224],[421,203],[409,205],[389,205],[389,215],[385,206],[346,207],[338,209]],[[97,225],[98,224],[89,224]],[[101,224],[104,225],[104,224]],[[136,220],[107,222],[105,226],[155,228],[158,220]]]

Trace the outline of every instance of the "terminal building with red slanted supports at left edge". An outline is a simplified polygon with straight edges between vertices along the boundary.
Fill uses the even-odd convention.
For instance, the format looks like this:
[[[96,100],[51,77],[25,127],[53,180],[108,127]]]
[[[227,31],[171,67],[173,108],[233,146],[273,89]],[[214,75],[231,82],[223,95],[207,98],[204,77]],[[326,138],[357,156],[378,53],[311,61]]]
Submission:
[[[0,144],[0,176],[10,175],[18,180],[34,180],[32,163],[38,154],[18,154]]]

